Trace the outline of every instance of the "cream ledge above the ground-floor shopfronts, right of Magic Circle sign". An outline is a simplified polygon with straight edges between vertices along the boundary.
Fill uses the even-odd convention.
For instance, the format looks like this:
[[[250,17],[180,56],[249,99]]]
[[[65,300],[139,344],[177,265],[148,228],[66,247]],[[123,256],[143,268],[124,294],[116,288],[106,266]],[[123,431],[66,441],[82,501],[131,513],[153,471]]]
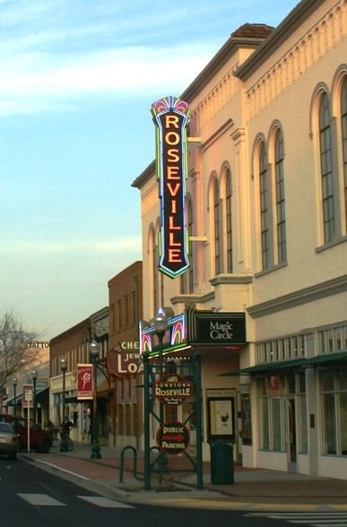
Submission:
[[[252,318],[272,315],[283,309],[302,306],[303,304],[314,302],[320,298],[331,297],[345,290],[347,290],[347,274],[308,288],[299,289],[279,298],[273,298],[261,304],[256,304],[256,306],[247,307],[247,313]]]

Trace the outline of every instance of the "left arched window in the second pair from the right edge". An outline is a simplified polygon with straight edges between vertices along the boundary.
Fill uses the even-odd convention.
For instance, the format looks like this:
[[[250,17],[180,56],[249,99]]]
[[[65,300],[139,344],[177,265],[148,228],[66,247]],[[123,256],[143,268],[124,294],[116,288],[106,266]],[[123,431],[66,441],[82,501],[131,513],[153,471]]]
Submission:
[[[268,269],[272,263],[272,210],[271,187],[267,169],[267,153],[265,143],[261,143],[259,151],[259,194],[260,194],[260,233],[262,269]]]

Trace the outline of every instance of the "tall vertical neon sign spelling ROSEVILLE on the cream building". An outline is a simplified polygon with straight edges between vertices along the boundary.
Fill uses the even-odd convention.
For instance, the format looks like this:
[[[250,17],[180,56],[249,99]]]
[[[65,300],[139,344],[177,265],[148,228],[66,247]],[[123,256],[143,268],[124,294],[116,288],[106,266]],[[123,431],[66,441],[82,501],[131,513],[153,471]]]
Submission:
[[[160,179],[159,270],[170,278],[187,271],[185,195],[187,178],[187,102],[165,97],[152,104],[156,125],[157,174]]]

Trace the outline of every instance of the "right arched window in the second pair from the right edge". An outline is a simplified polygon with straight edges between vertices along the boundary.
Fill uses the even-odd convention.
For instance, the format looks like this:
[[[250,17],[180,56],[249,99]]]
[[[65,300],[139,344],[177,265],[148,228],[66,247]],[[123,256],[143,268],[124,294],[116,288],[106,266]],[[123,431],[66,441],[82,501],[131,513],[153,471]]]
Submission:
[[[284,174],[283,174],[283,138],[278,130],[274,142],[274,177],[276,184],[276,228],[277,228],[277,262],[287,260],[287,240],[285,228]]]

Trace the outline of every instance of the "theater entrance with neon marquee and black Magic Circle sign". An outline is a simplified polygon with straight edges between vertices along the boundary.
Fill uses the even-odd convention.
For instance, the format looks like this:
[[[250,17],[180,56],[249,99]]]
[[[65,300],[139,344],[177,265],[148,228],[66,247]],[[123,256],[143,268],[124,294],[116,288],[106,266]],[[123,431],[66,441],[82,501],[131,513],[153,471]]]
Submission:
[[[189,363],[195,360],[196,352],[199,353],[203,394],[203,454],[204,459],[207,459],[212,441],[222,439],[232,444],[238,443],[239,376],[234,376],[230,383],[230,378],[221,374],[225,367],[239,371],[239,353],[247,345],[245,314],[214,313],[187,307],[182,315],[168,317],[164,322],[165,329],[158,330],[155,319],[152,324],[141,324],[140,327],[140,352],[155,362],[149,381],[152,392],[154,383],[164,374],[182,375],[187,383],[194,380]],[[165,386],[164,381],[162,384]],[[182,404],[168,402],[162,410],[166,421],[188,422],[189,444],[193,448],[196,446],[195,421],[189,416],[192,415],[194,397],[192,391]],[[153,403],[154,400],[155,393],[152,396]],[[159,426],[160,423],[152,430],[152,445],[155,445]],[[234,454],[239,457],[239,445],[236,445]]]

